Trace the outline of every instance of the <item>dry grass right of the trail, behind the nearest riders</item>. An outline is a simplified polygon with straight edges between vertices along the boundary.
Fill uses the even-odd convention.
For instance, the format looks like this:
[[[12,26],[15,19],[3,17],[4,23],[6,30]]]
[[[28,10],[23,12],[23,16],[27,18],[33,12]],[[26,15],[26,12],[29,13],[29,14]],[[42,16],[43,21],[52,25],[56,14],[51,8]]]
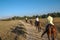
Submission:
[[[33,20],[33,22],[34,22],[34,20]],[[54,24],[55,24],[55,26],[57,28],[57,31],[58,31],[57,38],[60,40],[60,18],[54,18],[54,21],[53,22],[54,22]],[[40,23],[41,23],[42,27],[45,28],[45,26],[47,24],[46,18],[40,19]]]

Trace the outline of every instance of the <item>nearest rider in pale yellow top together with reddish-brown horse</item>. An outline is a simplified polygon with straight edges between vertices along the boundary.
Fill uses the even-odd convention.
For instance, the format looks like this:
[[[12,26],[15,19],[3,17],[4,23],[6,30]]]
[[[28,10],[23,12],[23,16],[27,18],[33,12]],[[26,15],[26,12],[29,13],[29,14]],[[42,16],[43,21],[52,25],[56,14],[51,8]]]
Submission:
[[[45,33],[47,33],[49,40],[51,40],[51,38],[52,38],[52,40],[55,40],[55,38],[56,38],[56,27],[54,26],[54,23],[53,23],[53,17],[48,15],[47,21],[48,21],[48,24],[45,28],[45,31],[42,33],[41,37],[43,37],[43,35]]]

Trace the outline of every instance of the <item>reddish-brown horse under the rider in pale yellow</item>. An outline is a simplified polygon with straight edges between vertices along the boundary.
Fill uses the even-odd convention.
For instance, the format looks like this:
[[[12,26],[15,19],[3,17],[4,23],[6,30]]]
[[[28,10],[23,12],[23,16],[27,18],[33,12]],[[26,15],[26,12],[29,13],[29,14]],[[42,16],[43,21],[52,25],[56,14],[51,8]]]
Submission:
[[[56,34],[57,34],[57,30],[56,27],[54,25],[48,24],[46,26],[46,30],[44,31],[44,33],[41,35],[41,37],[43,37],[43,35],[47,33],[48,36],[48,40],[55,40],[56,38]]]

